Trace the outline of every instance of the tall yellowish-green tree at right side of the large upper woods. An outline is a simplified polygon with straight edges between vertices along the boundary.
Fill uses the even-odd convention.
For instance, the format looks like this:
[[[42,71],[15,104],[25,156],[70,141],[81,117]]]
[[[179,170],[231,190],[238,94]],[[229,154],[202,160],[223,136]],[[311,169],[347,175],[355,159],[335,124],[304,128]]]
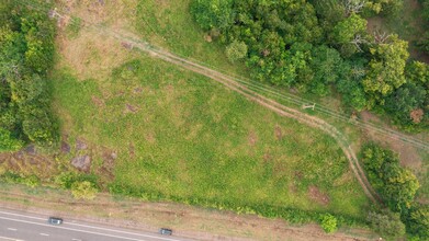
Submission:
[[[409,56],[407,48],[408,43],[397,35],[391,35],[387,43],[370,48],[372,59],[362,85],[373,104],[383,105],[385,96],[406,82],[405,65]]]

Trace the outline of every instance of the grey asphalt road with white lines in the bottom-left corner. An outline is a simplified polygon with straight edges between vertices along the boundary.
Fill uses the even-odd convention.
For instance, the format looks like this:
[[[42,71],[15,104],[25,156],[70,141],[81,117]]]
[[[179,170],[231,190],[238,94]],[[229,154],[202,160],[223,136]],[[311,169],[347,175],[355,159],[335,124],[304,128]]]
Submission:
[[[174,236],[139,232],[64,219],[47,223],[48,217],[0,209],[0,241],[188,241]],[[173,233],[174,234],[174,233]]]

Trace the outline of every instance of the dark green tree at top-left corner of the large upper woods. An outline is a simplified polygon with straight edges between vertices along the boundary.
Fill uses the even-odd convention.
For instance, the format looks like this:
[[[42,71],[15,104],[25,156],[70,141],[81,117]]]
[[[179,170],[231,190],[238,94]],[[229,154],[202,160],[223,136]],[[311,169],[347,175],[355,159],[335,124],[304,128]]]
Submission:
[[[232,0],[193,0],[191,13],[195,22],[205,31],[225,30],[234,23]]]

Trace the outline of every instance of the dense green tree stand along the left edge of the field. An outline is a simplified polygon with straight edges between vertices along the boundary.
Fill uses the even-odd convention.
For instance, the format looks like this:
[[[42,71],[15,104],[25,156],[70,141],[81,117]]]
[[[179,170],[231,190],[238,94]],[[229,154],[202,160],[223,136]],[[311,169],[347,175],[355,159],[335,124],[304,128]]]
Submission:
[[[46,13],[11,0],[0,3],[0,151],[58,139],[47,82],[54,35]]]

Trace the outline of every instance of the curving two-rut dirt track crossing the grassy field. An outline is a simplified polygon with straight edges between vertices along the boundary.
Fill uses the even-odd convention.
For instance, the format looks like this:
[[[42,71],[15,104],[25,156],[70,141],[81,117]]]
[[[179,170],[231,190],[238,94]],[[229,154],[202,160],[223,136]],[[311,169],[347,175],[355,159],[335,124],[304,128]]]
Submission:
[[[284,106],[273,100],[270,100],[266,96],[262,96],[258,94],[257,92],[249,90],[246,85],[238,83],[237,81],[234,80],[233,77],[226,76],[222,72],[218,72],[216,70],[210,69],[205,66],[199,65],[196,62],[193,62],[191,60],[184,59],[182,57],[176,56],[169,51],[159,49],[157,47],[154,47],[149,45],[148,43],[138,41],[138,38],[131,37],[128,33],[118,33],[110,28],[101,28],[99,26],[92,26],[95,27],[97,30],[103,31],[105,34],[109,36],[115,37],[121,42],[128,43],[132,48],[134,49],[139,49],[143,51],[148,53],[150,56],[160,58],[165,61],[171,62],[173,65],[180,66],[184,69],[194,71],[196,73],[203,74],[205,77],[208,77],[225,87],[236,91],[237,93],[246,96],[247,99],[255,101],[256,103],[270,108],[271,111],[289,117],[289,118],[294,118],[305,125],[319,128],[323,131],[327,133],[330,135],[332,138],[335,138],[338,142],[338,145],[341,147],[342,151],[345,152],[347,159],[349,160],[350,168],[353,171],[354,176],[358,179],[359,183],[361,184],[363,191],[365,192],[366,196],[373,202],[373,203],[380,203],[381,199],[379,195],[375,193],[375,191],[372,188],[370,185],[360,163],[359,160],[352,150],[352,148],[349,145],[349,141],[347,140],[346,136],[341,134],[337,128],[335,128],[332,125],[326,123],[325,120],[307,115],[298,110],[292,108]]]

